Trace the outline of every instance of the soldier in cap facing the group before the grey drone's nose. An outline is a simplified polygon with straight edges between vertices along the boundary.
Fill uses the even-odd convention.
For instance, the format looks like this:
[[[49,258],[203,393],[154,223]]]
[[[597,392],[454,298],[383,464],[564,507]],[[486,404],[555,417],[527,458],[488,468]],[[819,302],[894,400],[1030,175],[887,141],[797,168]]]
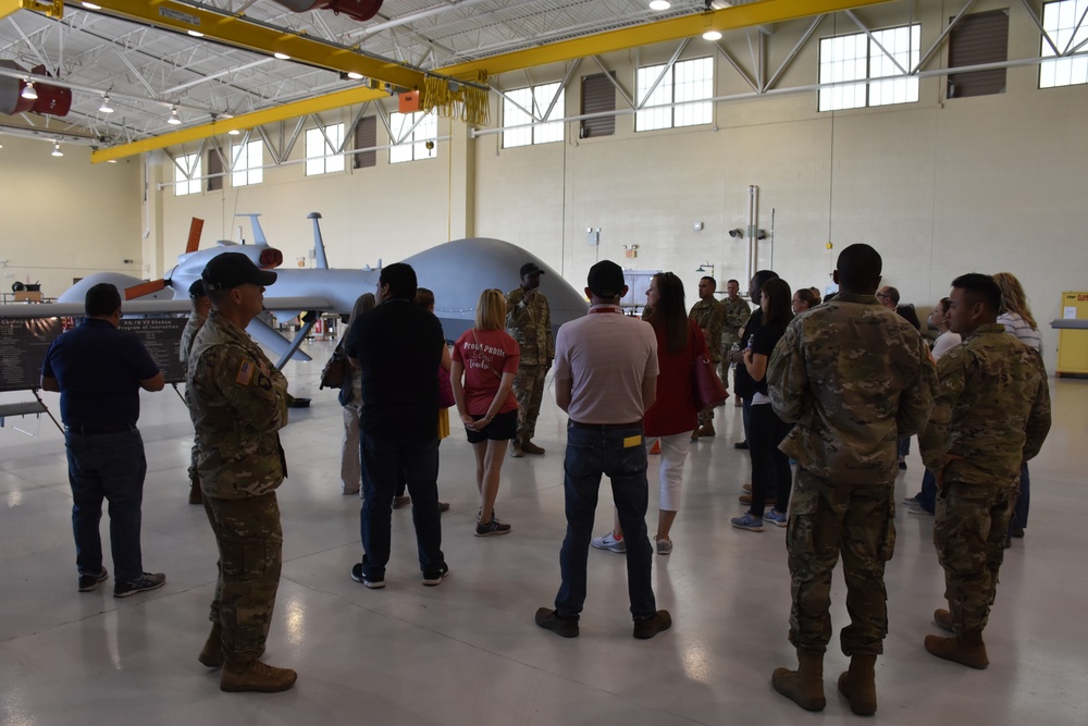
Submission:
[[[532,442],[536,434],[536,417],[544,397],[544,377],[555,359],[552,337],[552,309],[540,292],[544,270],[535,262],[521,266],[521,285],[506,295],[506,332],[518,342],[521,360],[514,379],[514,395],[518,399],[518,436],[510,442],[510,456],[543,454]]]

